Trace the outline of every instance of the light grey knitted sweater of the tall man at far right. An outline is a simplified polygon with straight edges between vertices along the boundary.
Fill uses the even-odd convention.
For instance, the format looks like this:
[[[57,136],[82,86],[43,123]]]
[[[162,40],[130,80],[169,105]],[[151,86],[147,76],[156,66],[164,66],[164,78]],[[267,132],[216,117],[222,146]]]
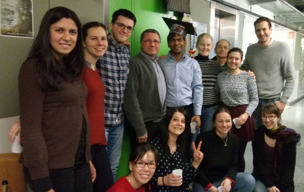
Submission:
[[[295,70],[286,43],[273,40],[264,47],[258,43],[250,45],[241,69],[254,72],[260,99],[281,98],[281,102],[287,103],[295,84]]]

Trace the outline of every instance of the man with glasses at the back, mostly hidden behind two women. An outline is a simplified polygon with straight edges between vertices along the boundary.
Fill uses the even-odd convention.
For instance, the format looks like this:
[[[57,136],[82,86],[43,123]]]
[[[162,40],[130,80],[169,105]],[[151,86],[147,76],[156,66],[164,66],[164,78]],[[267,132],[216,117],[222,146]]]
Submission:
[[[227,71],[227,54],[230,50],[230,42],[226,39],[220,39],[216,42],[214,53],[216,56],[211,60],[217,61],[224,71]]]

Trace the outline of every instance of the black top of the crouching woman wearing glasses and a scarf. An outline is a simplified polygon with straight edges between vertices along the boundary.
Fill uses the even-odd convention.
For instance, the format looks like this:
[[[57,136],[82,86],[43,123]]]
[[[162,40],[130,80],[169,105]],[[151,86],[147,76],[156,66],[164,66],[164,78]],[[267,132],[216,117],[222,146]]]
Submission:
[[[274,162],[278,162],[274,172],[276,172],[277,177],[279,177],[279,182],[275,182],[267,175],[265,169],[265,155],[264,155],[264,131],[262,127],[256,129],[254,133],[254,138],[252,141],[252,151],[253,151],[253,173],[252,175],[261,180],[261,182],[266,187],[276,186],[280,189],[281,192],[293,192],[294,191],[294,183],[293,183],[293,175],[294,175],[294,167],[295,167],[295,159],[296,159],[296,135],[288,135],[283,138],[284,139],[282,150],[281,150],[281,159],[275,159]],[[276,141],[276,146],[278,143],[278,139]],[[276,147],[275,146],[275,147]],[[279,156],[276,156],[279,157]]]

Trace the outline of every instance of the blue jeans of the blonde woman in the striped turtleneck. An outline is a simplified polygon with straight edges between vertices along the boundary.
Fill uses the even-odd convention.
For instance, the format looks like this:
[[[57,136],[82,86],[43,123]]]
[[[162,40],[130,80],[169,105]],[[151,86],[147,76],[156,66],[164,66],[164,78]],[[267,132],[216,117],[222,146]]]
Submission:
[[[199,133],[206,132],[212,129],[213,127],[212,116],[217,109],[218,106],[207,107],[202,109],[201,128],[200,131],[197,131],[196,133],[193,134],[192,142],[195,142],[196,137],[199,135]]]

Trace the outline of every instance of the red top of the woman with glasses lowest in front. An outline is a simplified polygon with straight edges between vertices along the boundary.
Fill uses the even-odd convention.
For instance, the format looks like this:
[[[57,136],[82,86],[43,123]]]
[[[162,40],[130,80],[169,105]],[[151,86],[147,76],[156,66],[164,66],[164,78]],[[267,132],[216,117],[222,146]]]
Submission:
[[[134,189],[126,176],[118,179],[106,192],[145,192],[142,185],[138,190]]]

